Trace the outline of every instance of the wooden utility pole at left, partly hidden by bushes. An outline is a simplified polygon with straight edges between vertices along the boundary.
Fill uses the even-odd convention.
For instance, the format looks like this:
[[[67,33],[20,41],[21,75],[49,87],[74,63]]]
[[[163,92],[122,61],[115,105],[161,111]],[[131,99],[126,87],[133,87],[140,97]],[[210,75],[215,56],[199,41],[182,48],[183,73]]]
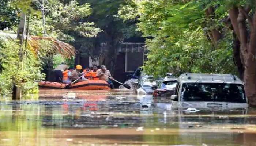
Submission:
[[[26,14],[21,13],[20,23],[17,31],[17,39],[19,40],[19,45],[20,45],[20,50],[19,50],[19,69],[20,70],[23,70],[23,54],[24,54],[23,42],[24,42],[25,34],[26,34]],[[19,84],[21,84],[21,81],[19,81]],[[13,91],[14,92],[12,95],[12,99],[20,99],[22,96],[22,87],[14,85]]]

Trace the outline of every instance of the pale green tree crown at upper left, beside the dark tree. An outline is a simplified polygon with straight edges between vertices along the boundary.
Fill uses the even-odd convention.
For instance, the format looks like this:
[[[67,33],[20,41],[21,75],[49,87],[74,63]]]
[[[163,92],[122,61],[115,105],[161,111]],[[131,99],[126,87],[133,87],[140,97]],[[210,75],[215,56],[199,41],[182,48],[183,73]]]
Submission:
[[[94,27],[93,22],[85,19],[91,14],[90,4],[79,5],[76,1],[68,4],[60,2],[53,3],[55,9],[51,9],[52,25],[55,31],[66,34],[79,34],[80,37],[95,37],[102,30]],[[61,37],[61,36],[59,36]]]

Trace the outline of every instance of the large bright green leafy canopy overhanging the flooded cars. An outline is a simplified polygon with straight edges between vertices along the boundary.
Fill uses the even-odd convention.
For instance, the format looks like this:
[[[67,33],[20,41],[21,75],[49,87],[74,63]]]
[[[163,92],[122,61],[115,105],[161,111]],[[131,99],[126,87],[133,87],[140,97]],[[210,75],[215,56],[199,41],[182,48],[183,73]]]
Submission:
[[[227,13],[219,9],[215,16],[206,17],[205,10],[220,1],[129,1],[118,11],[124,21],[137,18],[138,30],[148,37],[147,74],[163,76],[181,73],[233,73],[232,32],[217,44],[207,37],[211,29],[223,28]],[[226,2],[229,3],[229,2]],[[231,2],[230,2],[231,3]]]

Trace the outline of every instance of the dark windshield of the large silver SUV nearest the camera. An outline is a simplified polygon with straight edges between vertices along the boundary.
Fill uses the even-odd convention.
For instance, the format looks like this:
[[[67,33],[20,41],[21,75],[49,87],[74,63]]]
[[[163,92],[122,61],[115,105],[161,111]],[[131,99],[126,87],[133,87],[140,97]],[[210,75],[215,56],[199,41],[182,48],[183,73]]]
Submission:
[[[246,96],[241,84],[184,83],[181,101],[246,103]]]

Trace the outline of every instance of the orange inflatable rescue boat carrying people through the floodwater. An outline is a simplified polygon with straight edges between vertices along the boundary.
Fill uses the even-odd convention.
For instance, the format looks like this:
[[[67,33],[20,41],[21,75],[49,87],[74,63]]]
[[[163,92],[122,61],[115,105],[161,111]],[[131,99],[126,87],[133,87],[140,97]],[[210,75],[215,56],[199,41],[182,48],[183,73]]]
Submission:
[[[59,83],[59,82],[49,82],[41,81],[38,82],[39,87],[49,88],[49,89],[64,89],[68,84]],[[109,84],[103,80],[86,80],[82,82],[77,82],[72,84],[68,89],[78,89],[78,90],[107,90]]]

